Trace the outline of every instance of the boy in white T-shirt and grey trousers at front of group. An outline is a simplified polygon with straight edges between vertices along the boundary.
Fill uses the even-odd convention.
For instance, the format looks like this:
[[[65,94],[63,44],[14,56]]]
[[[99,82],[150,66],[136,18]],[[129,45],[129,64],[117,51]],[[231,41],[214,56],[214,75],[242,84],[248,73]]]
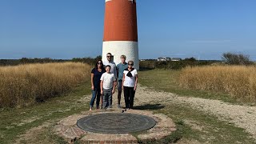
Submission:
[[[101,77],[101,94],[103,95],[103,108],[112,107],[112,94],[114,94],[114,83],[116,78],[114,74],[110,73],[111,66],[106,66],[106,73],[102,74]]]

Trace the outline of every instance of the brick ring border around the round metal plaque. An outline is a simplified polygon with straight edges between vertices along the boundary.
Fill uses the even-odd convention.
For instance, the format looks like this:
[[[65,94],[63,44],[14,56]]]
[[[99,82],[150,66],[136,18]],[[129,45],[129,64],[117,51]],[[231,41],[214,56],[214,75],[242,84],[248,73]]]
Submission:
[[[77,126],[77,121],[80,118],[93,114],[117,113],[118,110],[93,110],[85,111],[81,114],[73,114],[58,122],[54,128],[54,134],[58,134],[66,140],[66,142],[73,143],[80,139],[82,143],[138,143],[138,139],[132,134],[99,134],[82,130]],[[153,114],[146,110],[127,110],[125,113],[142,114],[154,118],[156,125],[150,130],[143,131],[143,134],[138,134],[138,138],[142,141],[158,140],[165,138],[176,130],[174,122],[165,114]]]

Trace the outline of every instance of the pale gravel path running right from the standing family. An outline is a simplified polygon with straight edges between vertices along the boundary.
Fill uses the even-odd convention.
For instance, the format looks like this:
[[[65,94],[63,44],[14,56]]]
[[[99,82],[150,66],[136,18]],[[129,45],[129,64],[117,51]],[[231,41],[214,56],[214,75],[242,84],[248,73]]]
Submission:
[[[256,139],[256,106],[239,106],[218,100],[180,97],[176,94],[157,92],[142,86],[138,86],[134,105],[159,102],[159,99],[161,99],[162,103],[175,102],[187,104],[196,110],[202,110],[207,114],[214,114],[220,120],[232,122],[236,126],[245,129]]]

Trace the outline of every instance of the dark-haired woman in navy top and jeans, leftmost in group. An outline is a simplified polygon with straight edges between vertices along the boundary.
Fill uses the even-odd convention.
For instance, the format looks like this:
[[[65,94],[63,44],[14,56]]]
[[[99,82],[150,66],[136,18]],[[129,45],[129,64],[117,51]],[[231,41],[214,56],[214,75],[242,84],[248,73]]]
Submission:
[[[91,70],[91,91],[92,91],[92,98],[90,100],[90,110],[94,106],[94,101],[96,99],[96,109],[98,109],[100,98],[101,98],[101,88],[100,78],[102,77],[102,74],[105,73],[106,70],[103,68],[102,60],[98,60],[98,62],[95,64],[95,67],[93,70]]]

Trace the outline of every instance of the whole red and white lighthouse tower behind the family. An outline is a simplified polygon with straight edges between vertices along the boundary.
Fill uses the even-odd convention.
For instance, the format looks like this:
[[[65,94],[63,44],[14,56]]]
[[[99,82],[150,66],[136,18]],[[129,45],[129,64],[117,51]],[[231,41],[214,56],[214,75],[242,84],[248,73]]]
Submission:
[[[136,0],[105,1],[103,61],[106,61],[107,53],[113,55],[116,65],[124,54],[126,62],[134,61],[134,68],[139,69]]]

